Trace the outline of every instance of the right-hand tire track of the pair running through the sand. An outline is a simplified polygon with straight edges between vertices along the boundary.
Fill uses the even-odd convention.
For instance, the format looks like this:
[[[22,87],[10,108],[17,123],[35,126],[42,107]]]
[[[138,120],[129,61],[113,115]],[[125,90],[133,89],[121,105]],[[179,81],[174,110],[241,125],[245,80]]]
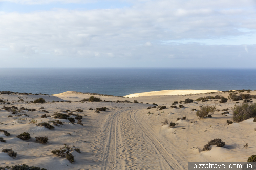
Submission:
[[[136,124],[138,124],[140,129],[145,133],[145,135],[155,145],[156,149],[159,151],[159,153],[161,153],[162,157],[165,159],[165,161],[168,163],[168,165],[170,166],[171,169],[175,169],[175,170],[183,169],[183,167],[177,162],[177,160],[174,159],[171,155],[169,155],[168,152],[166,151],[166,149],[163,147],[163,145],[157,140],[156,137],[153,136],[154,133],[148,132],[149,130],[147,130],[147,129],[150,129],[150,127],[148,127],[146,125],[146,123],[144,123],[143,120],[140,120],[138,118],[138,116],[137,116],[138,111],[139,110],[133,112],[133,115],[131,118],[134,119],[134,121],[136,122]]]

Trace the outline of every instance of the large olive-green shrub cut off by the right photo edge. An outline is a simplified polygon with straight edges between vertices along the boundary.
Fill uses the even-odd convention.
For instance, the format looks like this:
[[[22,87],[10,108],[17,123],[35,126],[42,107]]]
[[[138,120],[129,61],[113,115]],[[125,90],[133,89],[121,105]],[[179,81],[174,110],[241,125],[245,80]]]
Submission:
[[[242,105],[234,105],[233,121],[241,122],[256,116],[256,104],[243,103]]]

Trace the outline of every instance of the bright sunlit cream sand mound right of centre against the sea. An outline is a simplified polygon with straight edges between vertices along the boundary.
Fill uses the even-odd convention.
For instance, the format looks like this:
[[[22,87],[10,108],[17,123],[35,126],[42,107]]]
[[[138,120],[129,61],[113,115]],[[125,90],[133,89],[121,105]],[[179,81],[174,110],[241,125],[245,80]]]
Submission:
[[[218,90],[162,90],[162,91],[151,91],[144,93],[129,94],[124,97],[136,98],[142,96],[154,96],[154,95],[187,95],[187,94],[205,94],[209,92],[220,92]]]

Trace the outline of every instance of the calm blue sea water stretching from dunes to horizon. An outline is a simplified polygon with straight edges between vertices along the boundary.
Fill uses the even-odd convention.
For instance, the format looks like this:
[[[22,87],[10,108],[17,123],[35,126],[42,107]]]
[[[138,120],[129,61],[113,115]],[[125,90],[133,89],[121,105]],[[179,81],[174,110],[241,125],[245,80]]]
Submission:
[[[159,90],[256,89],[256,69],[0,68],[0,91],[124,96]]]

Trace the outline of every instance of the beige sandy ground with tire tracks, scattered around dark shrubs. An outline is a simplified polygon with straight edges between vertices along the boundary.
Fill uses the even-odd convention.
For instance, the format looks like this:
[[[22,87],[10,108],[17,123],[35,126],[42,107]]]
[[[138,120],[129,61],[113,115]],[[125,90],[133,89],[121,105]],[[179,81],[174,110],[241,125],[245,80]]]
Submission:
[[[255,95],[256,91],[250,94]],[[6,137],[0,132],[6,142],[0,142],[0,151],[8,148],[17,152],[16,158],[11,158],[6,153],[0,152],[0,167],[7,165],[27,164],[50,169],[188,169],[188,162],[246,162],[248,157],[256,152],[256,123],[252,118],[240,123],[227,125],[226,120],[232,119],[234,101],[219,103],[219,99],[208,102],[193,102],[184,104],[184,108],[170,108],[174,101],[184,101],[186,98],[196,100],[200,96],[222,95],[226,92],[215,94],[188,94],[170,96],[141,96],[137,98],[118,98],[113,96],[98,96],[102,100],[124,101],[137,100],[143,103],[116,103],[110,106],[109,102],[79,102],[90,95],[78,92],[66,92],[52,96],[40,95],[0,95],[0,99],[8,100],[11,104],[3,106],[25,107],[36,111],[12,114],[4,109],[0,110],[0,129],[8,131],[11,135]],[[34,104],[26,101],[34,101],[44,98],[49,103]],[[24,101],[20,101],[23,99]],[[52,103],[52,101],[59,101]],[[71,101],[61,102],[61,101]],[[255,99],[253,99],[255,102]],[[239,101],[240,103],[242,101]],[[149,103],[149,104],[146,104]],[[152,103],[164,105],[167,109],[147,109],[154,106]],[[180,104],[177,104],[179,106]],[[216,105],[216,109],[229,108],[227,115],[214,112],[212,118],[199,119],[196,111],[203,105]],[[49,113],[42,112],[44,110]],[[99,107],[109,109],[95,113]],[[62,126],[54,126],[49,130],[42,126],[30,123],[33,119],[40,122],[56,120],[54,112],[65,110],[83,116],[82,125],[58,119],[64,122]],[[94,110],[89,110],[93,108]],[[62,110],[62,111],[61,111]],[[147,114],[151,112],[153,114]],[[70,112],[69,112],[70,113]],[[27,114],[27,117],[23,114]],[[51,117],[41,118],[47,114]],[[13,115],[13,117],[8,117]],[[16,117],[22,115],[21,117]],[[178,120],[178,117],[186,116],[186,120]],[[71,116],[75,117],[75,116]],[[162,126],[165,119],[179,123],[175,128],[168,125]],[[50,123],[53,125],[52,123]],[[16,136],[28,132],[32,137],[29,140],[21,140]],[[70,133],[70,134],[69,134]],[[40,144],[35,137],[48,136],[47,144]],[[211,151],[200,151],[211,139],[220,138],[226,143],[225,147],[212,147]],[[72,148],[80,148],[81,153],[72,151],[75,162],[70,163],[64,157],[54,156],[51,151],[63,147],[63,144]],[[243,145],[248,143],[248,148]]]

